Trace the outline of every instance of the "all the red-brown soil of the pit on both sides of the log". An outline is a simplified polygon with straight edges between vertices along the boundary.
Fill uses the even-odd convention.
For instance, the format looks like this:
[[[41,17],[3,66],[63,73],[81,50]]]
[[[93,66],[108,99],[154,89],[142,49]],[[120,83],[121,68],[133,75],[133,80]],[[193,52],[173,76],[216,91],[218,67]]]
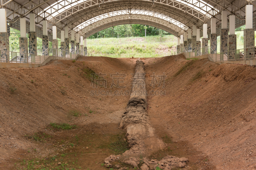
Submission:
[[[126,74],[124,90],[130,90],[135,61],[82,57],[76,62],[54,60],[38,68],[1,68],[0,168],[23,169],[27,166],[20,165],[22,159],[40,159],[36,165],[39,168],[45,159],[45,166],[51,168],[67,162],[68,167],[76,169],[108,169],[100,164],[117,152],[110,144],[125,138],[125,131],[118,126],[130,96],[91,96],[90,91],[95,89],[83,70],[107,74],[107,88],[98,89],[109,91],[113,90],[110,74]],[[164,140],[166,149],[149,150],[143,156],[158,160],[166,154],[186,157],[189,163],[183,169],[256,169],[256,113],[250,113],[256,104],[255,67],[185,60],[181,55],[143,61],[148,91],[153,90],[153,72],[167,75],[166,96],[148,96],[147,110],[155,134]],[[81,115],[74,117],[70,110]],[[49,125],[53,122],[77,128],[56,130]],[[27,137],[36,132],[52,138],[37,142]],[[62,158],[65,153],[68,155]],[[57,161],[50,160],[55,155]]]

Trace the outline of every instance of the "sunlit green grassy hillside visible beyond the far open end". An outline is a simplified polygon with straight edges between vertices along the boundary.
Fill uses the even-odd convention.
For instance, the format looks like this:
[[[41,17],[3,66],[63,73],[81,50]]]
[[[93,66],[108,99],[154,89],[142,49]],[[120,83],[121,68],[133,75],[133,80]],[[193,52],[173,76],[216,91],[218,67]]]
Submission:
[[[174,41],[174,42],[164,42]],[[163,42],[163,43],[154,43]],[[129,43],[129,44],[124,44]],[[136,44],[138,43],[138,44]],[[148,44],[147,44],[148,43]],[[102,45],[93,45],[102,44]],[[110,44],[110,45],[103,45]],[[119,44],[119,45],[117,45]],[[177,38],[173,35],[87,39],[88,53],[172,53],[176,51]]]

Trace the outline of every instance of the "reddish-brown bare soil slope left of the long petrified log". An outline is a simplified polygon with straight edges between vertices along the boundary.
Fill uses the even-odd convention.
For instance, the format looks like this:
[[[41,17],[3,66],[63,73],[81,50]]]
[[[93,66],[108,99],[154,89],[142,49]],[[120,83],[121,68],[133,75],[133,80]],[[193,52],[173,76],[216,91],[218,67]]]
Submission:
[[[14,163],[23,158],[42,159],[45,156],[50,159],[63,151],[64,147],[70,148],[78,143],[76,139],[84,143],[85,147],[105,145],[107,149],[101,148],[99,152],[106,152],[108,144],[116,142],[116,135],[123,135],[118,127],[130,96],[92,96],[91,90],[118,89],[110,88],[110,74],[117,72],[127,74],[122,85],[126,86],[124,90],[129,90],[130,73],[135,70],[136,60],[106,57],[79,60],[54,60],[37,68],[0,69],[1,169],[14,169]],[[100,85],[93,88],[90,86],[91,74],[100,72],[106,74],[106,88]],[[76,125],[77,128],[61,132],[50,126],[50,123],[66,123]],[[93,132],[97,136],[105,135],[105,138],[92,137]],[[98,141],[93,144],[84,142],[87,139]],[[50,146],[54,144],[55,147]],[[56,148],[60,144],[65,146]],[[103,161],[107,155],[109,153],[102,155],[102,158],[98,156],[98,159]],[[90,161],[95,163],[94,159]]]

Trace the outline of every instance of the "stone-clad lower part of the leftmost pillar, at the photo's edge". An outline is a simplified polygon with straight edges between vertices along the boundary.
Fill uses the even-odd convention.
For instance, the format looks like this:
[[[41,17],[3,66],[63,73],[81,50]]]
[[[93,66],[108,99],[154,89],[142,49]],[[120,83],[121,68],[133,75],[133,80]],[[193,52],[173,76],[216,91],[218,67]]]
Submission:
[[[9,53],[9,34],[7,32],[0,32],[0,50],[1,50],[1,61],[7,62],[10,60]]]

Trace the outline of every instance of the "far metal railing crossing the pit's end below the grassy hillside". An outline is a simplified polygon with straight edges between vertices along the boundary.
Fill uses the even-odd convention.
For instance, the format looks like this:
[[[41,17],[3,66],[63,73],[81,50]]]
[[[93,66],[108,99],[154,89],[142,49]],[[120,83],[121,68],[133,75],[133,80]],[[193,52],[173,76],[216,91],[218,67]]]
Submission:
[[[155,57],[165,57],[170,55],[175,55],[176,52],[173,53],[132,53],[132,54],[92,54],[88,53],[87,56],[103,56],[103,57],[111,57],[111,58],[155,58]]]

